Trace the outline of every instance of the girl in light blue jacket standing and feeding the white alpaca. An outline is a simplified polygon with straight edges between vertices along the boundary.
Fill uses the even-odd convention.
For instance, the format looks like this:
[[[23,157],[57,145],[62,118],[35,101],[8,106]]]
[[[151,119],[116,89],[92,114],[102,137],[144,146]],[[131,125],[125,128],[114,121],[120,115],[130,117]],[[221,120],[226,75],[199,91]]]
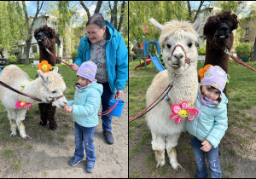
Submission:
[[[84,62],[77,72],[79,83],[74,94],[73,101],[67,102],[65,112],[72,113],[75,122],[75,144],[76,149],[69,164],[77,165],[84,159],[84,148],[86,153],[86,170],[92,172],[96,162],[93,136],[96,125],[99,124],[98,111],[101,105],[102,84],[97,84],[97,66],[92,61]]]

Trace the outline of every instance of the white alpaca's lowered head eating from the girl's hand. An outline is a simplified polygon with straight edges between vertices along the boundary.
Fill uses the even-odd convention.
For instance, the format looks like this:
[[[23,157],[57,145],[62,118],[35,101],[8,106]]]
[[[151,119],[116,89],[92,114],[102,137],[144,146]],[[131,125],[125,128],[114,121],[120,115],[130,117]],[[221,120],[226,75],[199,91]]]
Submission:
[[[38,76],[43,79],[44,97],[46,97],[48,101],[63,95],[63,91],[66,89],[66,84],[64,83],[61,74],[58,73],[58,67],[55,67],[53,71],[46,73],[38,70]],[[64,107],[67,105],[67,99],[61,97],[60,99],[53,101],[52,105],[56,107]]]

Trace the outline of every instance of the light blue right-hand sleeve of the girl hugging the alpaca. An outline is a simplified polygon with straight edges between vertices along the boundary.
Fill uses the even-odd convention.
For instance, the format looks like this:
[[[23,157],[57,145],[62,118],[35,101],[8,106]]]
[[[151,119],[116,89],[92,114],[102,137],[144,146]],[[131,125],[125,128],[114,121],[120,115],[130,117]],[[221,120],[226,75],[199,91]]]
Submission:
[[[225,134],[225,131],[228,129],[228,115],[227,108],[220,110],[217,116],[214,119],[214,125],[211,132],[207,136],[207,141],[210,141],[212,147],[218,147],[218,144],[222,137]]]

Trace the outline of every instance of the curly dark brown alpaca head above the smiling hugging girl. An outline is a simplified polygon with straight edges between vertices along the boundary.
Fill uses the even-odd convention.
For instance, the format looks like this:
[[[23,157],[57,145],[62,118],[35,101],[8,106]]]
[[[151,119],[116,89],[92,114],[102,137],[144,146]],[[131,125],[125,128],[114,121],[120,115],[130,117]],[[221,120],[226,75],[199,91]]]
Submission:
[[[231,11],[224,11],[209,17],[204,26],[207,43],[211,44],[214,49],[224,47],[231,49],[234,41],[232,31],[238,27],[238,24],[237,15],[231,14]]]

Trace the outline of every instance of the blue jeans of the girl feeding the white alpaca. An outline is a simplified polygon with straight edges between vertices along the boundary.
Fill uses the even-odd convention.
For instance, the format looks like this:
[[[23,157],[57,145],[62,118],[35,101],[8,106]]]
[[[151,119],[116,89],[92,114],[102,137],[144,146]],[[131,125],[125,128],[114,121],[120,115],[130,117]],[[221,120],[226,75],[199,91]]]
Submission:
[[[96,162],[95,148],[93,143],[93,136],[96,127],[87,128],[75,123],[74,128],[76,143],[76,150],[74,156],[79,160],[84,159],[85,147],[87,163]]]

